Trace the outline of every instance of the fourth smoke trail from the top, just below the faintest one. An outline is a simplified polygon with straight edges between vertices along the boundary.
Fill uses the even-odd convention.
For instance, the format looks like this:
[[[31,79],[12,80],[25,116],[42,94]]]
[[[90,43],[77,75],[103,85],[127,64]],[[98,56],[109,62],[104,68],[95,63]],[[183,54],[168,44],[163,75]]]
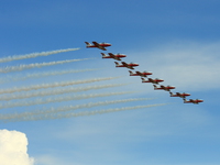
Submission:
[[[43,89],[43,88],[55,88],[55,87],[61,87],[61,86],[64,87],[64,86],[72,86],[72,85],[79,85],[79,84],[89,84],[89,82],[110,80],[110,79],[116,79],[116,78],[120,78],[120,77],[92,78],[92,79],[85,79],[85,80],[42,84],[42,85],[34,85],[34,86],[29,86],[29,87],[13,87],[9,89],[2,89],[0,90],[0,94],[12,94],[12,92],[19,92],[19,91],[37,90],[37,89]]]

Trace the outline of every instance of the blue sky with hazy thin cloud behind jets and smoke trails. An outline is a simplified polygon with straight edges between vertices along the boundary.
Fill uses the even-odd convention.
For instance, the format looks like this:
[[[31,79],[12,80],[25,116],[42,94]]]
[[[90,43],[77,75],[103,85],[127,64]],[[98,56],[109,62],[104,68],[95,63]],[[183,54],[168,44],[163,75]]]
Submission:
[[[34,157],[36,165],[220,164],[219,4],[218,0],[1,1],[0,57],[80,47],[79,51],[68,53],[1,63],[1,67],[95,58],[1,74],[2,79],[42,72],[101,68],[96,72],[11,81],[2,84],[2,89],[122,76],[119,79],[73,87],[131,84],[72,95],[138,91],[122,96],[15,107],[2,109],[2,112],[129,98],[156,99],[77,111],[169,102],[173,105],[69,119],[1,123],[0,128],[26,134],[28,153]],[[152,85],[141,84],[139,77],[129,77],[127,68],[116,68],[113,59],[102,59],[102,51],[86,48],[85,41],[111,43],[107,53],[127,54],[125,62],[140,64],[136,70],[152,72],[153,78],[165,80],[163,85],[173,85],[176,87],[175,91],[189,92],[190,98],[204,99],[205,102],[198,106],[184,105],[182,99],[170,98],[168,92],[154,91]]]

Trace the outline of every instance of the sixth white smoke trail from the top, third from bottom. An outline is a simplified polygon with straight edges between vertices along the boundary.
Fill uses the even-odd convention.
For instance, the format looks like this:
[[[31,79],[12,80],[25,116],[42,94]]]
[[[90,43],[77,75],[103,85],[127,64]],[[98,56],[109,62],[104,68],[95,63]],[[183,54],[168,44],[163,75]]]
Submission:
[[[121,91],[121,92],[106,92],[106,94],[91,94],[91,95],[79,95],[79,96],[61,96],[56,98],[38,98],[35,100],[24,100],[19,102],[8,101],[6,103],[0,103],[0,109],[3,108],[13,108],[13,107],[24,107],[24,106],[34,106],[34,105],[45,105],[51,102],[62,102],[62,101],[70,101],[70,100],[81,100],[81,99],[90,99],[97,97],[109,97],[116,95],[125,95],[125,94],[133,94],[134,91]]]

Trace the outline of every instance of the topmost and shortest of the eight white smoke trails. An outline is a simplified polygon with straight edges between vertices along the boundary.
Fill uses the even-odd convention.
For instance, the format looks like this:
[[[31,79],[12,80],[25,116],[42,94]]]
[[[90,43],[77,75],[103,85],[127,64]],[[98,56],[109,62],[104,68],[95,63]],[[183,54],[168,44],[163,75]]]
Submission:
[[[38,56],[48,56],[52,54],[58,54],[63,52],[70,52],[70,51],[77,51],[79,48],[66,48],[66,50],[57,50],[57,51],[48,51],[48,52],[41,52],[41,53],[31,53],[25,55],[14,55],[14,56],[8,56],[4,58],[0,58],[0,63],[11,62],[11,61],[19,61],[19,59],[26,59],[26,58],[35,58]]]

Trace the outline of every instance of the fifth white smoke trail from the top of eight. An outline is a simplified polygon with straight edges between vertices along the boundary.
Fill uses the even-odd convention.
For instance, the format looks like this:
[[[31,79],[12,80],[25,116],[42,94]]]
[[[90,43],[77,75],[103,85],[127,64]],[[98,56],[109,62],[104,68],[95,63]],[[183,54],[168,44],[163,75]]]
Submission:
[[[32,92],[24,92],[24,94],[13,94],[13,95],[4,95],[0,97],[0,100],[8,101],[14,99],[25,99],[31,97],[43,97],[43,96],[51,96],[51,95],[62,95],[68,92],[79,92],[79,91],[87,91],[87,90],[96,90],[96,89],[103,89],[103,88],[113,88],[125,86],[128,84],[110,84],[110,85],[99,85],[99,86],[88,86],[88,87],[68,87],[68,88],[55,88],[53,90],[43,90],[43,91],[32,91]]]

